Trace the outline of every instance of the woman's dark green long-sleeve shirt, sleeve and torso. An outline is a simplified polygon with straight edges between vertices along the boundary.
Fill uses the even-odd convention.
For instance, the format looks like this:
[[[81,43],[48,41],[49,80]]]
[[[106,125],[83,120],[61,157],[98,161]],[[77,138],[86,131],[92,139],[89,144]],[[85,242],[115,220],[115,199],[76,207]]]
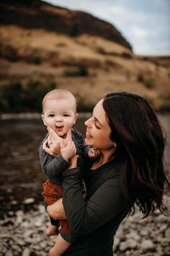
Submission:
[[[76,242],[63,256],[112,256],[113,236],[128,214],[120,189],[120,164],[113,159],[86,171],[86,199],[79,168],[63,171],[63,206]]]

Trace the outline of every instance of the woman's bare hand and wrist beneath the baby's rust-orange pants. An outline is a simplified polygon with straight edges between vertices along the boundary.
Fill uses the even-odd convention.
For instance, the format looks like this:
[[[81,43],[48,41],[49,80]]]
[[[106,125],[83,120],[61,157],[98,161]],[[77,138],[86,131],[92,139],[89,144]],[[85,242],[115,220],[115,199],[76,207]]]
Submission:
[[[48,215],[55,220],[66,219],[66,214],[63,208],[63,198],[53,203],[53,205],[48,205],[47,212]]]

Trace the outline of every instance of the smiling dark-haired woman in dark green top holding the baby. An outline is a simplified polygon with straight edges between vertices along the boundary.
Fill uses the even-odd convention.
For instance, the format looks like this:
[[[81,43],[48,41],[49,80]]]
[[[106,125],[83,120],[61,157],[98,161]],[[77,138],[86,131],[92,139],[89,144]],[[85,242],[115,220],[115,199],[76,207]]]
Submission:
[[[165,139],[151,106],[130,93],[106,95],[85,124],[85,142],[100,154],[86,170],[86,198],[75,156],[63,171],[63,207],[77,236],[63,255],[112,256],[115,232],[136,205],[143,218],[156,209],[164,212],[164,188],[169,187],[163,163]],[[54,142],[53,130],[48,131]],[[61,202],[47,210],[53,218],[64,216]]]

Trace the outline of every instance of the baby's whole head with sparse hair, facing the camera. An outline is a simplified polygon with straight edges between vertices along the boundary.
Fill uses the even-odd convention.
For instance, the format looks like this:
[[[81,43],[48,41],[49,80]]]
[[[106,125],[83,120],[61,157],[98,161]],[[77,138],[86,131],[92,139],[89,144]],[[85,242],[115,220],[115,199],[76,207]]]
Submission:
[[[60,137],[66,137],[68,129],[75,124],[76,98],[68,90],[55,89],[46,94],[42,101],[42,120]]]

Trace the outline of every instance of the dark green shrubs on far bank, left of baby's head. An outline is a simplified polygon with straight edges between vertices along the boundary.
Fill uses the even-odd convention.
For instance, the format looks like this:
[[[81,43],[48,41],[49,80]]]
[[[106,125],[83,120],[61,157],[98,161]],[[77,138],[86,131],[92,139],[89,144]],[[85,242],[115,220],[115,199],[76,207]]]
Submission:
[[[56,88],[55,82],[30,80],[14,82],[0,88],[0,108],[6,112],[41,111],[42,98]]]

